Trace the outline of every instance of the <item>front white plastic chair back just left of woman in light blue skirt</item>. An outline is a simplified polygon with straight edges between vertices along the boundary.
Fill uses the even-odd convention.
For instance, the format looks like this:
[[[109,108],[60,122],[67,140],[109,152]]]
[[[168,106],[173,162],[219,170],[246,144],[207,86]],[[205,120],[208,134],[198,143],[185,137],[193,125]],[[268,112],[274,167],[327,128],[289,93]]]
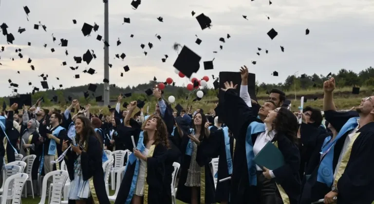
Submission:
[[[67,178],[69,177],[69,173],[66,170],[54,170],[52,172],[47,173],[43,178],[43,184],[42,184],[42,193],[41,193],[41,199],[39,204],[45,203],[45,198],[47,194],[47,181],[50,177],[53,177],[53,188],[51,193],[51,203],[59,204],[61,202],[61,195],[62,195],[62,189],[65,185],[65,182]]]

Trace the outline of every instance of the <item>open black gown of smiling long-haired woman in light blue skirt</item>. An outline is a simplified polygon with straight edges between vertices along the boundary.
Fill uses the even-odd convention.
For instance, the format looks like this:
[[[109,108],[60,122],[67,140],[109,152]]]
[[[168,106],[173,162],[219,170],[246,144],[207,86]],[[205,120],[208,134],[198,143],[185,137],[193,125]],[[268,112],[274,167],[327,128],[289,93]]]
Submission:
[[[110,204],[105,190],[104,170],[102,167],[102,146],[96,136],[90,136],[88,139],[87,150],[82,151],[81,168],[83,180],[90,182],[91,197],[87,204]],[[99,151],[101,150],[101,151]],[[78,155],[68,150],[65,156],[66,167],[69,172],[70,180],[74,180],[74,163]],[[75,200],[69,200],[69,204],[75,204]]]

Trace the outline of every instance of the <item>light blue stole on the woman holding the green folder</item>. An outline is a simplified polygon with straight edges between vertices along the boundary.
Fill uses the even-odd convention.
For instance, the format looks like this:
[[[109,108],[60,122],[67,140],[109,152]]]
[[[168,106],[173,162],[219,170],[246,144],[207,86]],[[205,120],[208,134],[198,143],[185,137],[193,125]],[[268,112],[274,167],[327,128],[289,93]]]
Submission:
[[[257,186],[256,164],[253,161],[255,154],[253,153],[252,135],[265,132],[265,124],[259,122],[251,122],[247,127],[245,136],[245,156],[247,158],[248,178],[251,186]]]

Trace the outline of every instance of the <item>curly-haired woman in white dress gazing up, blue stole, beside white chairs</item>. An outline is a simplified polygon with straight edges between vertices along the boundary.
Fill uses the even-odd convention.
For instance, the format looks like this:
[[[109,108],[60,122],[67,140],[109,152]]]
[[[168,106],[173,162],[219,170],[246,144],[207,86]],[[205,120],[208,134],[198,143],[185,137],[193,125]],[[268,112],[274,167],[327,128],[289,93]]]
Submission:
[[[131,117],[136,106],[136,101],[130,103],[126,118]],[[115,204],[168,204],[162,193],[169,148],[166,124],[159,116],[151,115],[133,137],[136,147],[131,136],[121,137],[132,153]]]

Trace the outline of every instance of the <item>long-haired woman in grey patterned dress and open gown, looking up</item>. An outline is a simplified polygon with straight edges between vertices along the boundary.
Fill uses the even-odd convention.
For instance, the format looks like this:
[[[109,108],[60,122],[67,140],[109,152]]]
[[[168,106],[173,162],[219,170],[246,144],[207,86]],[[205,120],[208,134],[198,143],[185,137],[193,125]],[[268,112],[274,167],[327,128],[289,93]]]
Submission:
[[[190,132],[182,133],[181,174],[176,199],[188,204],[215,203],[215,189],[212,171],[209,167],[211,156],[206,151],[210,131],[206,116],[197,112]]]

